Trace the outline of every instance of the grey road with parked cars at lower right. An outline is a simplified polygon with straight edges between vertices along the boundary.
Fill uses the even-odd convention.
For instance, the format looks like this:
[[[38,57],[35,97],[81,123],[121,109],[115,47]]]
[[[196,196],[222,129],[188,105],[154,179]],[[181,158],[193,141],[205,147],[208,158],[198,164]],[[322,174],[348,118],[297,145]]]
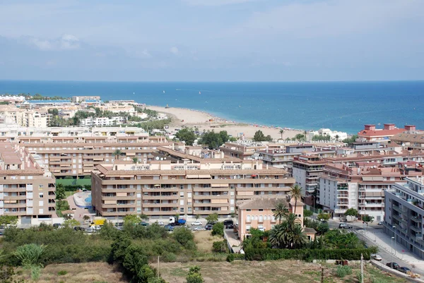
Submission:
[[[329,220],[329,227],[331,229],[338,229],[338,224],[340,224],[340,223],[341,222]],[[348,224],[352,224],[352,223],[349,222]],[[360,240],[365,241],[367,246],[377,246],[375,241],[372,241],[372,240],[368,239],[367,237],[365,237],[363,235],[364,229],[362,227],[358,227],[358,225],[362,226],[362,224],[358,224],[358,222],[356,222],[353,225],[353,232],[358,235],[358,238]],[[377,233],[382,233],[382,230],[383,230],[383,227],[378,226],[376,224],[373,224],[373,225],[370,225],[370,226],[367,227],[367,233],[371,232],[374,235],[376,235]],[[368,234],[368,235],[371,235],[371,233]],[[412,265],[410,263],[406,263],[404,260],[400,260],[399,258],[395,258],[389,251],[384,250],[384,248],[381,248],[381,247],[378,247],[378,248],[379,248],[379,252],[377,254],[380,255],[383,258],[382,263],[386,264],[386,263],[394,262],[394,263],[399,264],[400,267],[404,267],[404,266],[408,267],[413,272],[419,274],[421,277],[424,277],[424,270],[420,270],[417,267],[412,267]],[[396,249],[399,250],[399,245],[397,246]]]

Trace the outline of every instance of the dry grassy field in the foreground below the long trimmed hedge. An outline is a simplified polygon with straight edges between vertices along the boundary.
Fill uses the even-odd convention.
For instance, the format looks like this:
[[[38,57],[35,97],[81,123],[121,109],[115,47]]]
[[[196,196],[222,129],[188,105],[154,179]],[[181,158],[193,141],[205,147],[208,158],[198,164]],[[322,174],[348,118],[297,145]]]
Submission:
[[[321,282],[321,267],[314,263],[303,263],[298,260],[275,261],[240,261],[233,263],[202,262],[202,263],[161,263],[160,275],[166,282],[183,283],[189,267],[199,265],[205,283],[319,283]],[[326,283],[356,283],[359,265],[352,266],[352,275],[340,278],[336,276],[336,265],[324,264],[324,282]],[[372,280],[374,279],[374,280]],[[401,278],[386,275],[375,267],[365,267],[365,283],[401,283],[408,282]]]

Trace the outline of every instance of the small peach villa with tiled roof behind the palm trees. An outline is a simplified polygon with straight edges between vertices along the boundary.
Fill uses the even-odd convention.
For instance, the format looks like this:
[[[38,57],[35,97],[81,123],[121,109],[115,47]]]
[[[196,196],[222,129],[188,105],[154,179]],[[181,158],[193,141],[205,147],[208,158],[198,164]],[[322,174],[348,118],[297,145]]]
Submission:
[[[273,216],[276,210],[276,205],[282,203],[287,207],[289,213],[295,213],[298,216],[298,224],[303,227],[303,203],[298,201],[295,206],[294,200],[289,198],[254,198],[251,200],[244,200],[238,205],[238,227],[237,233],[241,240],[249,238],[251,236],[251,229],[259,229],[261,231],[271,230],[279,220]],[[309,230],[308,230],[309,232]],[[312,235],[307,234],[309,239],[313,240],[314,233]]]

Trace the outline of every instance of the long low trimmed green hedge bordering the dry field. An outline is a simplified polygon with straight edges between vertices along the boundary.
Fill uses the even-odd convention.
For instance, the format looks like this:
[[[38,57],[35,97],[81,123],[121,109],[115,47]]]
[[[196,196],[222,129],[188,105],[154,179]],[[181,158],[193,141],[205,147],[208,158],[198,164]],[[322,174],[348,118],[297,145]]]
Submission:
[[[361,253],[365,260],[370,259],[370,251],[366,248],[334,250],[249,248],[245,250],[245,258],[246,260],[360,260]]]

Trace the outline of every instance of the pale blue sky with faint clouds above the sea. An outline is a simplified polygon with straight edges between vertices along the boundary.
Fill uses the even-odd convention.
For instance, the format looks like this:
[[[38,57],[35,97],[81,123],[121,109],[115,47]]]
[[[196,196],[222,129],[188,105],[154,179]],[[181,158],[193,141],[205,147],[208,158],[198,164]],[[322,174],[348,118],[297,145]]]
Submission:
[[[423,80],[423,0],[0,0],[0,79]]]

